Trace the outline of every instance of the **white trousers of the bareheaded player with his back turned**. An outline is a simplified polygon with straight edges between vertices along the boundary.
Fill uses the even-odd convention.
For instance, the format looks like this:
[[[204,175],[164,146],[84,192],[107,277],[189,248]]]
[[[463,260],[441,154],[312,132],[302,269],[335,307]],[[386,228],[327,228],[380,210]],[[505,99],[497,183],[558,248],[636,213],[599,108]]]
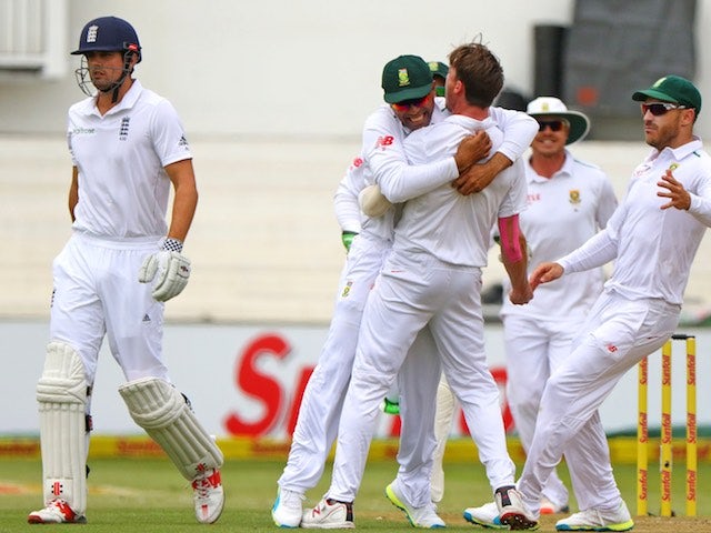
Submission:
[[[417,333],[428,323],[492,490],[513,484],[515,467],[507,451],[499,389],[483,349],[480,293],[478,268],[444,263],[428,253],[390,253],[363,312],[343,403],[348,416],[341,418],[339,426],[328,497],[354,500],[380,402]],[[433,402],[439,375],[420,374],[419,379],[422,384],[428,383],[425,389],[434,391]],[[408,392],[401,389],[401,396],[407,399]],[[433,433],[433,426],[428,431]]]

